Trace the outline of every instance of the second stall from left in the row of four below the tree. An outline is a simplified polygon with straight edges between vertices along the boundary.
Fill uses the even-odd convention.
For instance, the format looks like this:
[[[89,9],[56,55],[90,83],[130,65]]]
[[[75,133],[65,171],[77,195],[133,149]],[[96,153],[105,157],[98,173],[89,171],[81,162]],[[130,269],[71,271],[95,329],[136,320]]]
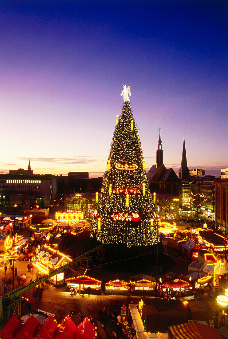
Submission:
[[[106,295],[127,295],[130,283],[127,277],[118,274],[108,276],[105,283]]]

